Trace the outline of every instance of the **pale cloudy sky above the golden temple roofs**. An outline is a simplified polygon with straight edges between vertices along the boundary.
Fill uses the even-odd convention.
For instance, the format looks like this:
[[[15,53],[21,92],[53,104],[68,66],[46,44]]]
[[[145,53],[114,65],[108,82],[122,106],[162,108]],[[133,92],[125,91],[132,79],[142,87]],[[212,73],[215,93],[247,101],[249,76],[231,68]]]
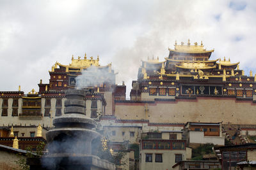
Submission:
[[[0,0],[0,90],[38,90],[54,62],[86,52],[112,62],[129,96],[141,60],[164,60],[168,46],[188,38],[255,74],[256,1]]]

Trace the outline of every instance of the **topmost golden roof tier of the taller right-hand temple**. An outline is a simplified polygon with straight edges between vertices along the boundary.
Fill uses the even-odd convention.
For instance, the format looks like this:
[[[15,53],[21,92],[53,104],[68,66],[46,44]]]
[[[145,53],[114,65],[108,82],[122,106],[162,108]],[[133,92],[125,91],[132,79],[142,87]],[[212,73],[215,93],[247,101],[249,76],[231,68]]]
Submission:
[[[182,53],[209,53],[209,52],[214,52],[214,50],[209,50],[207,51],[204,48],[204,45],[201,41],[201,45],[198,45],[196,42],[194,43],[194,45],[190,45],[190,41],[188,39],[188,45],[184,45],[183,42],[181,42],[180,45],[177,45],[177,41],[175,41],[175,48],[174,50],[169,48],[169,51],[172,52],[182,52]]]

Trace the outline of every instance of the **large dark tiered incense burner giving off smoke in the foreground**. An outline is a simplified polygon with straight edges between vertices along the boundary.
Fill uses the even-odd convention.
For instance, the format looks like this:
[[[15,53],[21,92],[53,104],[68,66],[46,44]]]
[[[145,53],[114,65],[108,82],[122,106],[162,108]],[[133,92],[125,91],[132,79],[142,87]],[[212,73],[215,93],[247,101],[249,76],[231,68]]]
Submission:
[[[96,122],[85,115],[85,91],[70,89],[65,96],[65,114],[53,120],[55,128],[46,134],[49,153],[42,158],[40,168],[115,169],[115,164],[92,155],[92,141],[100,134],[93,130]]]

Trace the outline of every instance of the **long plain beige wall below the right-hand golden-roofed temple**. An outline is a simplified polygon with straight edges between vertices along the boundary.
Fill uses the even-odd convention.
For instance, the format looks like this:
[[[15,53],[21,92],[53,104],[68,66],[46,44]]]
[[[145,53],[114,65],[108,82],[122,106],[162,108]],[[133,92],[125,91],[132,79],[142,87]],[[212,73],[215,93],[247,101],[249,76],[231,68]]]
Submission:
[[[176,101],[116,103],[115,116],[123,119],[148,119],[150,122],[223,122],[255,124],[256,103],[237,101],[232,97],[197,97]]]

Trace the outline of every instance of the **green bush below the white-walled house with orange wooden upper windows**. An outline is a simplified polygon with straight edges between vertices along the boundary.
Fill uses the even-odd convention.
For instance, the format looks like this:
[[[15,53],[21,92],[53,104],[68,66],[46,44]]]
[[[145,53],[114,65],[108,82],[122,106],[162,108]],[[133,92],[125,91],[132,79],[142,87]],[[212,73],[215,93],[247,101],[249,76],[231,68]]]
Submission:
[[[212,151],[212,147],[214,147],[212,143],[205,143],[204,145],[200,145],[197,148],[193,149],[191,160],[203,160],[203,155],[214,153]]]

